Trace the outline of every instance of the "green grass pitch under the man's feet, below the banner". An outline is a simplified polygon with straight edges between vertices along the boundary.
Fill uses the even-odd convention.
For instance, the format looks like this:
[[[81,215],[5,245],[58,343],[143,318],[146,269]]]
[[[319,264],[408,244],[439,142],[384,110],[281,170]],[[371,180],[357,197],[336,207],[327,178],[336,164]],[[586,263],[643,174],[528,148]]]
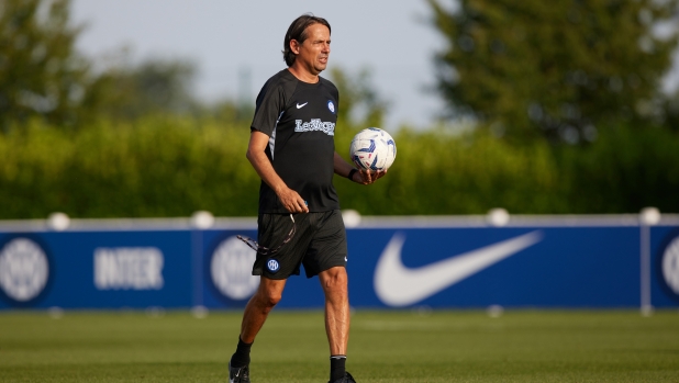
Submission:
[[[0,313],[0,382],[227,382],[241,314]],[[254,383],[327,382],[320,312],[274,312]],[[679,382],[679,312],[363,312],[347,370],[368,382]]]

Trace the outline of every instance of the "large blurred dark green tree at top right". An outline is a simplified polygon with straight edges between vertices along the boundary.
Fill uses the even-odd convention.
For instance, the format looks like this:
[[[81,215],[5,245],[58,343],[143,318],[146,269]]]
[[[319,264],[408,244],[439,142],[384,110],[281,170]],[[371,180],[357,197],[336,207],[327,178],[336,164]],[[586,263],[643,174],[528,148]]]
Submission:
[[[597,128],[657,116],[678,0],[427,0],[447,41],[438,90],[457,114],[520,139],[593,140]]]

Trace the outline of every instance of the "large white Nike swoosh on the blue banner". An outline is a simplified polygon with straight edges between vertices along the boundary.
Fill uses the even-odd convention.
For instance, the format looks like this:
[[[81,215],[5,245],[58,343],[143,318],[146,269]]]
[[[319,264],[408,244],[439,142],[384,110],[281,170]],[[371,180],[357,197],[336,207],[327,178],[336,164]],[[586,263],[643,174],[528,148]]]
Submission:
[[[430,297],[543,238],[539,230],[468,251],[416,269],[401,261],[405,237],[397,233],[375,269],[375,292],[389,306],[408,306]]]

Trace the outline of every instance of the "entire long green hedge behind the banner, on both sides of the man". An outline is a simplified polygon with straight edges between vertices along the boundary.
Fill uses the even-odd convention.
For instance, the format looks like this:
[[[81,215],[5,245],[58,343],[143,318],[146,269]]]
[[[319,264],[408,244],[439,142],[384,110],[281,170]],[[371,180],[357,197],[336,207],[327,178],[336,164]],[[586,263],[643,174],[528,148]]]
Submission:
[[[338,125],[348,157],[356,128]],[[679,137],[619,127],[590,147],[511,146],[482,134],[400,129],[386,178],[336,177],[343,209],[365,215],[679,212]],[[169,217],[257,213],[247,126],[191,117],[100,121],[64,131],[34,121],[0,135],[0,218]]]

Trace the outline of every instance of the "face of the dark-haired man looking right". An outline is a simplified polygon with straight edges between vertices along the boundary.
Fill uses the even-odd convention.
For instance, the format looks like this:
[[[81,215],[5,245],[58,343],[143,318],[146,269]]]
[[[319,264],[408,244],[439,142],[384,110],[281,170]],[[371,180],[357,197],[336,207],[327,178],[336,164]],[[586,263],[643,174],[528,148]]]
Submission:
[[[297,41],[290,42],[290,48],[297,58],[296,66],[301,66],[310,74],[316,76],[325,70],[330,56],[330,30],[323,24],[312,24],[307,26],[307,40],[299,44]]]

